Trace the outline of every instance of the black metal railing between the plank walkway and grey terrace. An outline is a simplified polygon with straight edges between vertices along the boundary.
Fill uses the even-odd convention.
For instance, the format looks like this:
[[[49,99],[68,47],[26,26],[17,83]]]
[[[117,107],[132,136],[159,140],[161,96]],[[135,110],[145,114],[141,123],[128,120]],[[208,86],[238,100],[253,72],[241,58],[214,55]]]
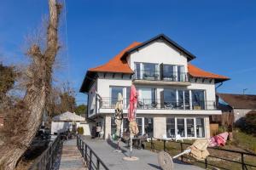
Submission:
[[[80,135],[77,136],[77,145],[89,170],[109,170],[101,158],[80,138]]]

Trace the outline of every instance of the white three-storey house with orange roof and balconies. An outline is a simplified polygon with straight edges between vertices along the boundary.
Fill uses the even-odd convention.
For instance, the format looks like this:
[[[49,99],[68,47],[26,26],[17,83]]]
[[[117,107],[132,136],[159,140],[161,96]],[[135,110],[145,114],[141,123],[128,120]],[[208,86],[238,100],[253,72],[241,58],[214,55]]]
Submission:
[[[216,109],[215,84],[229,80],[191,65],[193,54],[159,35],[133,42],[105,65],[86,72],[80,92],[88,94],[88,117],[104,129],[105,139],[115,132],[114,105],[124,97],[127,114],[131,84],[139,93],[137,124],[140,134],[155,138],[207,138],[209,116]],[[128,129],[124,119],[122,132]]]

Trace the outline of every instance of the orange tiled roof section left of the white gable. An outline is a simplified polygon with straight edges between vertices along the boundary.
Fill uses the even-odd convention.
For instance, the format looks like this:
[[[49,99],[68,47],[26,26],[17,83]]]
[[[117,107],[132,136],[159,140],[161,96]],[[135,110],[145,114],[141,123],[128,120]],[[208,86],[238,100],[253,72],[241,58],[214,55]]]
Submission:
[[[140,45],[141,42],[133,42],[127,48],[122,50],[119,54],[110,59],[105,65],[100,65],[95,68],[89,69],[89,71],[104,71],[104,72],[122,72],[122,73],[133,73],[126,60],[122,60],[121,57],[131,48],[135,48]]]

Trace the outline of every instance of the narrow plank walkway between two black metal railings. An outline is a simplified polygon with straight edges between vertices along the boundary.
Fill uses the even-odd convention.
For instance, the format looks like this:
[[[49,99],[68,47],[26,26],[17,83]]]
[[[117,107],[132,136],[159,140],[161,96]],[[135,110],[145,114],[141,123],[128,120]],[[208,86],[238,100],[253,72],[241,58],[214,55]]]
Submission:
[[[83,158],[77,147],[77,140],[71,139],[63,143],[60,170],[85,170]]]

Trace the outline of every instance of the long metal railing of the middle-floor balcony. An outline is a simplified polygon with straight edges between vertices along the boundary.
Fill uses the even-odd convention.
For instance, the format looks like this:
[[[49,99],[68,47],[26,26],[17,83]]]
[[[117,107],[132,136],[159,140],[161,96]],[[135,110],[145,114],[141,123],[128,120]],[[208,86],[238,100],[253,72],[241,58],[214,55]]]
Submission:
[[[117,99],[102,98],[101,109],[114,109]],[[124,99],[124,109],[127,109],[129,99]],[[164,109],[164,110],[216,110],[215,101],[177,101],[171,99],[138,99],[137,109]]]

